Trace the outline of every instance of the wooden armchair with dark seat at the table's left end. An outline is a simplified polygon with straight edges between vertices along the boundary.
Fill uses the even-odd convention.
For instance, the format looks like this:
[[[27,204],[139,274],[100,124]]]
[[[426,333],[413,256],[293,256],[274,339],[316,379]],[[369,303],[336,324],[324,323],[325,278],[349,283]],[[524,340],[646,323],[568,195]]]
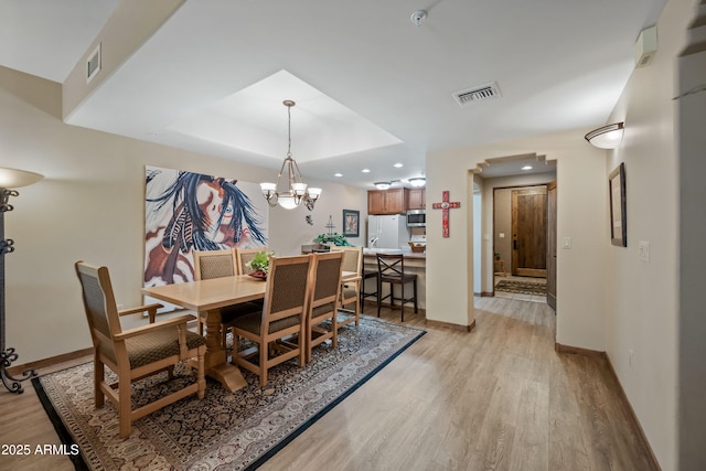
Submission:
[[[132,421],[175,403],[191,394],[204,397],[204,355],[206,341],[186,330],[193,315],[180,315],[156,322],[161,304],[142,306],[118,311],[110,276],[106,267],[94,267],[76,261],[76,275],[82,286],[84,309],[94,346],[94,402],[103,407],[107,397],[118,409],[120,437],[128,437]],[[148,312],[149,324],[122,330],[120,315]],[[196,358],[196,381],[167,396],[132,408],[132,383],[145,376],[167,371],[173,376],[173,366],[188,358]],[[105,378],[105,367],[118,377],[116,383]]]

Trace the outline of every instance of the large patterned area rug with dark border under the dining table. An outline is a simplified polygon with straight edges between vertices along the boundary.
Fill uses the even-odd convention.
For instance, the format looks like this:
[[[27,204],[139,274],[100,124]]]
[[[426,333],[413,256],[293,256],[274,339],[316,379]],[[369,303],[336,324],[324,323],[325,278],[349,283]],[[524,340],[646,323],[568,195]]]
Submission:
[[[417,341],[425,331],[361,318],[339,331],[339,347],[314,347],[312,362],[270,370],[266,387],[245,371],[248,385],[235,393],[208,379],[206,395],[184,398],[118,435],[116,409],[95,409],[93,362],[32,381],[77,469],[249,470],[256,469],[333,406]],[[133,386],[133,402],[193,382],[185,366],[169,382],[161,373]],[[76,447],[77,446],[77,447]],[[83,460],[83,461],[82,461]]]

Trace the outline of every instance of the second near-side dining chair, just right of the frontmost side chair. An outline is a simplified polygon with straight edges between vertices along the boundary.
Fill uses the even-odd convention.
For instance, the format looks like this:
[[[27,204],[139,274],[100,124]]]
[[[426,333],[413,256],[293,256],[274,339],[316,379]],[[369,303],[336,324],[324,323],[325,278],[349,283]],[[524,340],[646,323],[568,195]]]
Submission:
[[[343,253],[313,254],[312,289],[307,309],[307,363],[311,351],[327,340],[339,346],[338,311],[341,302],[341,266]]]

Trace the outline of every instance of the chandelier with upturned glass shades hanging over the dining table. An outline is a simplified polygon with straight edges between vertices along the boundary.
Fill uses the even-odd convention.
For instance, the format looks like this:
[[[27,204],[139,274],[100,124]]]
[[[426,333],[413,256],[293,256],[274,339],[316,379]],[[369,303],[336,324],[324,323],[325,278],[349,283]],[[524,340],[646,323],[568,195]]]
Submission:
[[[282,162],[282,168],[279,170],[279,174],[277,175],[277,183],[260,183],[260,189],[263,190],[263,195],[270,206],[279,204],[285,210],[293,210],[303,201],[309,210],[313,210],[314,203],[319,200],[319,196],[321,196],[321,189],[307,189],[307,183],[304,183],[301,178],[299,165],[297,165],[297,161],[291,158],[291,107],[295,106],[296,103],[290,99],[286,99],[282,103],[287,107],[288,117],[287,130],[289,141],[287,147],[287,158]],[[286,175],[288,182],[288,186],[285,191],[280,191],[279,189],[279,182],[282,179],[282,175]]]

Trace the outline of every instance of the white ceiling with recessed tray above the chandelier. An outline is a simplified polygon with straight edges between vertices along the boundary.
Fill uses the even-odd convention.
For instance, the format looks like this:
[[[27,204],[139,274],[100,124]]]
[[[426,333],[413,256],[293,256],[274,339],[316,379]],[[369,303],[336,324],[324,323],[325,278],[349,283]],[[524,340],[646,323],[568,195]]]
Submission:
[[[0,64],[63,82],[118,2],[0,0]],[[372,188],[429,152],[605,124],[665,2],[189,0],[68,122],[278,169],[293,99],[304,178]],[[278,73],[299,88],[243,98]],[[489,82],[500,99],[452,97]]]

